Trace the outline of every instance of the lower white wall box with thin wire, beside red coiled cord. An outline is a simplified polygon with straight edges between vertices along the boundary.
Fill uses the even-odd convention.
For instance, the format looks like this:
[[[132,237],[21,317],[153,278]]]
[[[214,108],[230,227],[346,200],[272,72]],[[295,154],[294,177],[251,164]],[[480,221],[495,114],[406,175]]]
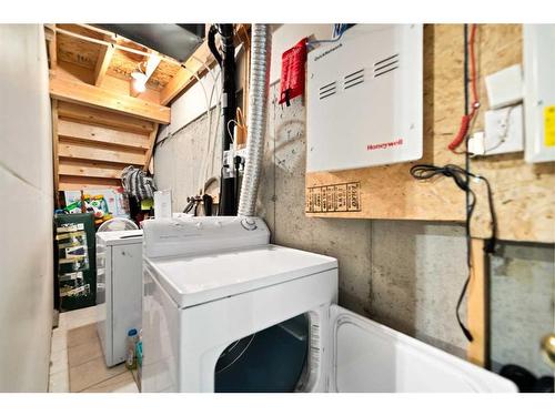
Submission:
[[[485,113],[483,155],[524,151],[523,106],[512,105]]]

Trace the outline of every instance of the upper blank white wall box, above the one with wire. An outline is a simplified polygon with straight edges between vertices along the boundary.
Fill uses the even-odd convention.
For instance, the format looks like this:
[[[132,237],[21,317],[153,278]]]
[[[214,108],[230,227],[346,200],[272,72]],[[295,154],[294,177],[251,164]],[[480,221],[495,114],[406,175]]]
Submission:
[[[516,104],[523,99],[521,64],[505,68],[485,78],[490,109]]]

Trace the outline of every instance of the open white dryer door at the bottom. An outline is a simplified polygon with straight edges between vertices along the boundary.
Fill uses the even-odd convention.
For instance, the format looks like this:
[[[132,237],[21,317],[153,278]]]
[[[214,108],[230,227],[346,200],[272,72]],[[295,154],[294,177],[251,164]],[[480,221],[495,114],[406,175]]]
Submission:
[[[330,318],[331,392],[516,392],[494,373],[337,305]]]

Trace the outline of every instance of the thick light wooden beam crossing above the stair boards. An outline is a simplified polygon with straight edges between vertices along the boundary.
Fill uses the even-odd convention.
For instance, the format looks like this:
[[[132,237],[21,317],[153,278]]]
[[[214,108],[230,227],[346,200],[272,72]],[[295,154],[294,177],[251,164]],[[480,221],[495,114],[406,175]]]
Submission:
[[[84,82],[62,80],[56,75],[50,77],[50,97],[61,101],[133,115],[155,123],[170,123],[169,106],[121,95]]]

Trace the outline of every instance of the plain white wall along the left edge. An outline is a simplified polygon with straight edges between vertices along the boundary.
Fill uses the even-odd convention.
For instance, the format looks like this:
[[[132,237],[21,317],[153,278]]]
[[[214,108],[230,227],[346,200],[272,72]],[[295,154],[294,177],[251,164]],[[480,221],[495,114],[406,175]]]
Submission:
[[[0,24],[0,392],[46,392],[52,139],[40,24]]]

